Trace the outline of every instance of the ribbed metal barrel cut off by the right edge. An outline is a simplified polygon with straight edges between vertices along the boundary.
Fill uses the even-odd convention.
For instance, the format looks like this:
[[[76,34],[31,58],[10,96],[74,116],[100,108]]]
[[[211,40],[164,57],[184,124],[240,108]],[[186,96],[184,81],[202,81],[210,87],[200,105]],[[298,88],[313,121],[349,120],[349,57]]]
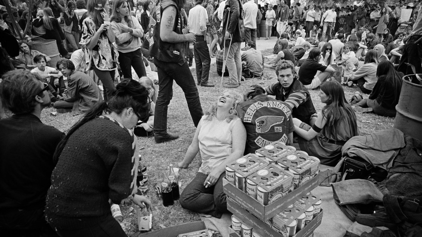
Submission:
[[[422,78],[422,74],[418,74]],[[411,79],[411,82],[407,79]],[[422,141],[422,85],[416,75],[406,75],[396,105],[394,127]]]

